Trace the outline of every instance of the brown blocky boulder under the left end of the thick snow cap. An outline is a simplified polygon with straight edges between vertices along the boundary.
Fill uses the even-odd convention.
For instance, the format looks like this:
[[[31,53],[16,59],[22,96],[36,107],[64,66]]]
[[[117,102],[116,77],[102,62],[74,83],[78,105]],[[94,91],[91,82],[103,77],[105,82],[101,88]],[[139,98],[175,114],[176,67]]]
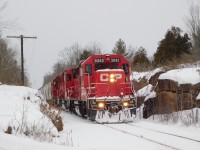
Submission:
[[[162,91],[176,92],[177,90],[178,90],[178,83],[169,79],[158,80],[158,84],[155,88],[155,91],[157,93]]]

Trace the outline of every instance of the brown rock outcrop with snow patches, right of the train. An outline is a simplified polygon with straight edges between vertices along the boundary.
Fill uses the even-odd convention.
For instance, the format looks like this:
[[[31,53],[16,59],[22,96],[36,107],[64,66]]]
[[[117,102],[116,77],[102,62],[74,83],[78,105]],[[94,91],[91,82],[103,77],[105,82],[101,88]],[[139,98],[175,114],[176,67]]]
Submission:
[[[163,73],[165,72],[160,71],[148,78],[144,76],[141,80],[139,80],[139,82],[135,81],[136,91],[145,89],[145,86],[147,87],[149,84],[152,85],[152,90],[149,91],[148,94],[145,93],[142,95],[136,92],[138,100],[137,107],[144,104],[144,118],[148,118],[153,114],[168,114],[176,111],[192,109],[194,107],[200,108],[200,100],[196,99],[200,93],[200,80],[197,84],[189,83],[190,81],[182,84],[178,82],[179,80],[176,80],[176,78],[180,79],[178,76],[180,71],[178,71],[178,75],[173,73],[169,74],[170,77],[175,77],[175,80],[159,78]],[[163,75],[166,76],[166,74]],[[185,80],[183,73],[181,75],[181,79]],[[199,77],[197,78],[199,79]],[[187,75],[186,80],[188,81]],[[191,81],[192,80],[191,76]],[[149,96],[152,91],[156,92],[155,97]]]

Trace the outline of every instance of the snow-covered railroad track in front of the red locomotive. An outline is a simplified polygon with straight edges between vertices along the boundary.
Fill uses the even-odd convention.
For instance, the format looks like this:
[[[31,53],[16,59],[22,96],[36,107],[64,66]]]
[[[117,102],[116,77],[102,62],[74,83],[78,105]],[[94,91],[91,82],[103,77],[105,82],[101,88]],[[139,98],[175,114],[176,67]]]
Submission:
[[[175,135],[175,134],[170,134],[170,133],[165,133],[165,132],[160,132],[156,130],[151,130],[151,129],[146,129],[140,126],[135,126],[135,125],[130,125],[130,124],[102,124],[103,126],[106,126],[108,128],[111,128],[113,130],[116,130],[118,132],[122,132],[124,134],[128,134],[137,138],[141,138],[156,144],[159,144],[161,146],[164,146],[166,148],[170,148],[173,150],[186,150],[188,149],[187,147],[182,146],[182,143],[189,143],[188,147],[195,147],[197,149],[200,146],[200,141]],[[129,128],[127,127],[129,126]],[[138,130],[139,129],[139,130]],[[147,133],[145,133],[145,131]],[[135,132],[136,131],[136,132]],[[155,135],[156,134],[156,135]],[[162,135],[161,135],[162,134]],[[154,136],[152,136],[154,135]],[[158,137],[163,137],[163,139],[167,139],[167,141],[164,141],[163,139],[155,138],[155,136]],[[169,140],[169,141],[168,141]],[[171,141],[171,143],[170,143]],[[176,141],[176,142],[174,142]],[[188,142],[190,141],[190,142]],[[173,144],[175,143],[175,144]],[[192,148],[191,148],[192,149]]]

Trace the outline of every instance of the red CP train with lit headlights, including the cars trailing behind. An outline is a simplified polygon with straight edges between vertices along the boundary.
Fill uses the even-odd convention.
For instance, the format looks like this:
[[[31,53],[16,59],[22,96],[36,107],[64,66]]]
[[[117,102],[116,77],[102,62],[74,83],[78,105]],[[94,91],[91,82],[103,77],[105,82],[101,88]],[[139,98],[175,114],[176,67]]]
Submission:
[[[47,100],[99,123],[135,117],[130,65],[121,55],[94,54],[40,90]]]

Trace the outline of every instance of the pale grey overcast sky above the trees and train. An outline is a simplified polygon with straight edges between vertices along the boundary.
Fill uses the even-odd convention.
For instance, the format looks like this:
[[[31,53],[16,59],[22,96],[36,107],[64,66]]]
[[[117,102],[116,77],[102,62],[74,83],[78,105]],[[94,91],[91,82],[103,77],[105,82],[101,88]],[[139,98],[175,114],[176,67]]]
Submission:
[[[25,66],[34,88],[42,86],[58,52],[76,42],[82,47],[97,42],[104,52],[111,52],[121,38],[127,47],[142,46],[152,56],[171,26],[186,31],[184,18],[189,8],[188,0],[1,1],[8,2],[6,18],[17,19],[23,28],[6,30],[4,37],[37,36],[24,41]],[[9,39],[9,43],[20,52],[19,40]]]

